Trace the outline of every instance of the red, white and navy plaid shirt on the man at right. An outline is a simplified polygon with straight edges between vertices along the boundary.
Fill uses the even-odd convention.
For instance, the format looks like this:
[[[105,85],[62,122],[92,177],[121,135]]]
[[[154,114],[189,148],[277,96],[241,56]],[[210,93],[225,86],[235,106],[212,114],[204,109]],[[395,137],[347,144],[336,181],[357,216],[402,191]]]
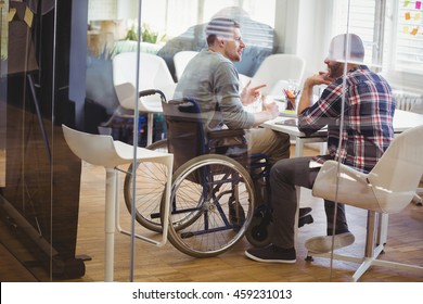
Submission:
[[[341,131],[343,99],[345,115]],[[394,139],[394,111],[389,85],[360,65],[348,71],[345,89],[343,77],[326,87],[320,99],[298,116],[298,128],[310,135],[328,125],[329,155],[315,157],[318,163],[341,160],[361,172],[370,172]]]

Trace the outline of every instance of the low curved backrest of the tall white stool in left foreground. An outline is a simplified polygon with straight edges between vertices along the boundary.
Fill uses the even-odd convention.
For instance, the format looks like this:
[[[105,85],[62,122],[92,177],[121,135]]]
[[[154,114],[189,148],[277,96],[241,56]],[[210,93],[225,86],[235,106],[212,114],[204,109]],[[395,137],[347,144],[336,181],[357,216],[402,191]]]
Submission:
[[[63,135],[70,151],[82,161],[97,166],[116,166],[116,149],[108,135],[93,135],[62,125]]]

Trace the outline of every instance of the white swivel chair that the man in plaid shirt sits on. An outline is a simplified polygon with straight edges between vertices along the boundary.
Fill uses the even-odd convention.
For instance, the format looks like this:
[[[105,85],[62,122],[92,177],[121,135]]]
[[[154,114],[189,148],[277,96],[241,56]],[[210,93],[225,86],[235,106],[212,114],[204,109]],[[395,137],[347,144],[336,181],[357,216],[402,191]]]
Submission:
[[[369,174],[334,161],[323,164],[316,178],[312,194],[368,210],[366,253],[364,257],[311,252],[309,255],[333,256],[335,259],[361,263],[352,276],[354,281],[357,281],[372,265],[416,270],[423,275],[422,266],[377,259],[385,246],[384,242],[377,242],[379,245],[374,248],[377,217],[402,211],[415,194],[423,173],[422,138],[423,125],[400,134]]]

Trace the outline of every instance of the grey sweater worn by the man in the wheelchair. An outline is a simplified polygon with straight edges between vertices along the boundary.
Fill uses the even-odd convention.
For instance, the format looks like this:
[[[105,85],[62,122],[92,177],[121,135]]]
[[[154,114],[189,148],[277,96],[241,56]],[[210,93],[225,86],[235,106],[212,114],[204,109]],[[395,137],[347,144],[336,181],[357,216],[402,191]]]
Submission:
[[[194,99],[205,115],[205,130],[248,129],[254,115],[244,110],[233,63],[218,52],[201,51],[187,65],[174,99]],[[217,111],[215,111],[217,110]]]

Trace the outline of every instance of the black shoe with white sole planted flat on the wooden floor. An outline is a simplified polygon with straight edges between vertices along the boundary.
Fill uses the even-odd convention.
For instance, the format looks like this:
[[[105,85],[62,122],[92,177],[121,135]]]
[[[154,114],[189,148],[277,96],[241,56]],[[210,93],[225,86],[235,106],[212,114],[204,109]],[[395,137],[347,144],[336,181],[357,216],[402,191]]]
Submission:
[[[266,248],[248,249],[245,251],[245,255],[251,259],[264,263],[294,264],[296,262],[295,248],[283,249],[273,244]]]

